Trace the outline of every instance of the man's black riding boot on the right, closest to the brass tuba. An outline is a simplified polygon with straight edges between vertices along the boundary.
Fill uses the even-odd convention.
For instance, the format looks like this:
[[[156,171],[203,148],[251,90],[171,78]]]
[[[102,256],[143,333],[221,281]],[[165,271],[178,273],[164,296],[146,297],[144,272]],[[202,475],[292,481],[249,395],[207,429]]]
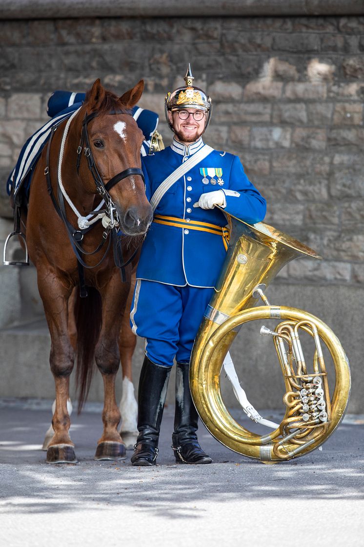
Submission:
[[[199,415],[189,391],[189,366],[177,363],[175,431],[172,449],[178,463],[211,463],[212,459],[201,449],[197,440]]]

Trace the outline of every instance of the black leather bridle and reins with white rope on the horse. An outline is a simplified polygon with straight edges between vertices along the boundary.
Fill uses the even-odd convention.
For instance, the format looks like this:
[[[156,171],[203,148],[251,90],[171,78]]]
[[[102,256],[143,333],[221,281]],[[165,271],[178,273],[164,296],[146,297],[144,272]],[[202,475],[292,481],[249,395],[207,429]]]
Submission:
[[[134,253],[127,261],[123,261],[121,245],[118,245],[118,228],[120,226],[120,220],[118,219],[116,207],[114,203],[112,202],[111,196],[109,194],[109,190],[113,188],[118,182],[122,181],[124,178],[129,177],[132,174],[141,176],[144,182],[144,174],[139,167],[129,167],[125,169],[124,171],[117,173],[114,177],[110,179],[108,183],[106,184],[103,183],[103,180],[100,177],[100,174],[98,172],[96,163],[94,161],[94,158],[91,152],[91,147],[89,145],[89,138],[88,138],[88,132],[87,132],[87,124],[89,123],[89,121],[96,118],[98,113],[93,112],[88,115],[86,113],[85,118],[82,121],[82,133],[81,133],[80,144],[79,144],[79,147],[77,148],[76,169],[78,173],[79,167],[80,167],[80,161],[81,161],[81,152],[83,148],[85,156],[87,158],[88,168],[92,174],[94,183],[96,184],[96,191],[102,197],[102,201],[100,202],[99,206],[97,207],[95,211],[91,211],[91,213],[89,213],[88,217],[82,217],[81,214],[77,211],[76,207],[71,202],[71,200],[69,199],[69,196],[67,195],[67,193],[65,192],[63,188],[63,184],[62,184],[62,177],[61,177],[61,166],[62,166],[62,160],[63,160],[63,149],[64,149],[65,138],[67,137],[70,121],[74,117],[76,112],[71,116],[71,118],[68,120],[67,125],[65,126],[65,130],[62,137],[62,145],[61,145],[61,149],[59,150],[58,176],[57,176],[58,202],[52,190],[50,169],[49,169],[52,138],[55,131],[57,130],[58,125],[53,126],[51,130],[51,135],[47,144],[46,167],[44,170],[44,174],[46,177],[47,190],[49,195],[51,196],[53,206],[55,207],[55,210],[58,216],[63,220],[71,246],[77,258],[77,266],[79,269],[79,278],[80,278],[80,296],[82,298],[85,298],[87,296],[87,289],[85,284],[85,274],[83,272],[83,268],[92,269],[94,267],[99,266],[104,260],[104,258],[106,257],[106,254],[108,254],[109,252],[111,240],[113,243],[115,265],[121,269],[122,281],[123,282],[126,281],[125,267],[128,264],[130,264],[130,262],[133,260],[136,253],[138,252],[138,248],[135,249]],[[121,110],[119,110],[119,111],[109,112],[109,114],[125,114],[125,112],[122,112]],[[64,198],[67,200],[71,209],[74,211],[74,213],[77,216],[77,224],[79,225],[79,229],[74,228],[74,226],[67,219]],[[105,209],[100,210],[103,204],[105,205]],[[88,218],[92,216],[93,214],[97,215],[96,218],[89,221]],[[87,252],[83,249],[81,245],[83,236],[87,234],[87,232],[91,230],[91,228],[93,228],[94,224],[97,224],[98,222],[100,222],[101,219],[102,219],[102,224],[105,228],[102,235],[102,241],[99,243],[96,249],[94,249],[93,251]],[[106,250],[102,258],[98,261],[97,264],[94,264],[93,266],[88,266],[85,263],[85,261],[82,259],[81,255],[92,255],[92,254],[98,253],[103,248],[106,241],[108,240],[109,235],[110,235],[110,238],[108,241],[108,245],[106,247]]]

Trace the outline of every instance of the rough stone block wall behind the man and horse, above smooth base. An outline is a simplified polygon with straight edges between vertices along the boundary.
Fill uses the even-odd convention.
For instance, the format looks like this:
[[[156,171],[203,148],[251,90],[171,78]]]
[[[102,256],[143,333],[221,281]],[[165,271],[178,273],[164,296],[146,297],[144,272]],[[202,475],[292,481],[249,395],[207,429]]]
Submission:
[[[167,90],[195,83],[213,99],[206,142],[240,155],[268,201],[266,222],[323,261],[286,283],[364,282],[364,18],[168,18],[1,21],[0,174],[46,119],[55,89],[97,77],[120,92],[145,79],[165,142]],[[1,184],[1,214],[9,208]]]

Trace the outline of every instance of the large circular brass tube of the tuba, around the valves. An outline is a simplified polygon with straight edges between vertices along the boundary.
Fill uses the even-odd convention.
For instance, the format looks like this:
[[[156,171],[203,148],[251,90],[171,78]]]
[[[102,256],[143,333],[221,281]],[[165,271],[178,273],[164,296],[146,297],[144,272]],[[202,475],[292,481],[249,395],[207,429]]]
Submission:
[[[274,309],[276,310],[277,306],[274,306]],[[335,388],[331,398],[331,419],[326,424],[324,434],[310,439],[306,445],[300,447],[300,450],[297,450],[297,444],[291,444],[287,441],[284,446],[287,457],[278,458],[273,451],[273,447],[281,440],[278,438],[280,429],[278,428],[262,436],[250,432],[238,424],[230,415],[220,393],[220,371],[224,357],[236,335],[237,327],[250,321],[271,318],[272,306],[249,308],[227,319],[214,330],[204,347],[194,347],[194,352],[199,355],[199,359],[192,360],[190,365],[192,397],[202,422],[204,422],[213,437],[235,452],[269,463],[302,456],[322,445],[341,422],[350,394],[349,362],[341,343],[333,331],[321,319],[311,313],[285,306],[279,307],[279,310],[280,318],[283,320],[294,322],[311,321],[315,324],[321,340],[324,341],[331,354],[335,368]],[[204,319],[204,322],[210,323],[208,319]],[[202,323],[201,329],[205,330],[206,324]],[[196,344],[199,344],[198,338]],[[287,379],[285,379],[285,383],[286,388],[289,390]],[[288,417],[288,412],[289,408],[285,412],[283,421]]]

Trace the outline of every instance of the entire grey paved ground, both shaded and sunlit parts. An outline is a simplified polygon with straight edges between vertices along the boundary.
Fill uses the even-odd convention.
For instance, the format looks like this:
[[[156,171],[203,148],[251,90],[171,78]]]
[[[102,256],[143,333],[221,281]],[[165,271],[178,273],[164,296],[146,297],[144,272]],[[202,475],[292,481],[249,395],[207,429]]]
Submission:
[[[326,444],[263,465],[201,427],[212,465],[176,465],[172,408],[158,465],[93,460],[97,405],[73,416],[77,465],[47,465],[40,450],[49,403],[0,400],[0,546],[364,545],[364,416],[349,415]],[[275,413],[266,417],[277,417]]]

